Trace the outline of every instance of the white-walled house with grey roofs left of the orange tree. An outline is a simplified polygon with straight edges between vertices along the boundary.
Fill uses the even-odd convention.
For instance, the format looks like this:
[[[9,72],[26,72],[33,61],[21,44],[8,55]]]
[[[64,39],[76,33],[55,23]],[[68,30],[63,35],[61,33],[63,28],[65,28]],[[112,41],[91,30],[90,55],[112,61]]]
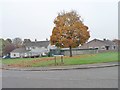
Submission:
[[[17,48],[10,53],[11,58],[39,57],[49,52],[49,41],[24,41],[22,48]]]

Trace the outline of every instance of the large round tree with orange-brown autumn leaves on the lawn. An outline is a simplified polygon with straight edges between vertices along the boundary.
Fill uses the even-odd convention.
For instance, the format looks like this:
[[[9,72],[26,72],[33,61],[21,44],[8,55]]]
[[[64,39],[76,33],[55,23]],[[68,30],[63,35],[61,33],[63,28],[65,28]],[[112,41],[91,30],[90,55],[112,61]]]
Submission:
[[[60,48],[69,48],[70,57],[72,57],[72,48],[84,44],[90,38],[88,27],[84,25],[76,11],[60,12],[54,24],[50,37],[51,44]]]

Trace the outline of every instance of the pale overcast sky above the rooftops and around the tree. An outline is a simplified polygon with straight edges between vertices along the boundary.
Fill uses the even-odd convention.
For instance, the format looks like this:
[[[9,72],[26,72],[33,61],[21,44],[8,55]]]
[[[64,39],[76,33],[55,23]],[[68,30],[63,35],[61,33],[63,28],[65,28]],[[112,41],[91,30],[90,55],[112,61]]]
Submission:
[[[50,38],[58,12],[76,10],[90,39],[118,38],[118,0],[1,0],[0,38]]]

